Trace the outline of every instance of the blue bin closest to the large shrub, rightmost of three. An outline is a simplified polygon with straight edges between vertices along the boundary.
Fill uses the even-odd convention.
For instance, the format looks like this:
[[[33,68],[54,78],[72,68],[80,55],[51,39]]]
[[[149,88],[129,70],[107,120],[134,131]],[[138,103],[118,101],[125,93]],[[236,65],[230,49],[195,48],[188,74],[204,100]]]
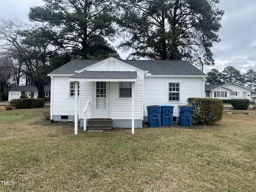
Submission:
[[[193,121],[193,106],[191,105],[180,105],[178,106],[179,111],[179,124],[181,126],[192,126]]]

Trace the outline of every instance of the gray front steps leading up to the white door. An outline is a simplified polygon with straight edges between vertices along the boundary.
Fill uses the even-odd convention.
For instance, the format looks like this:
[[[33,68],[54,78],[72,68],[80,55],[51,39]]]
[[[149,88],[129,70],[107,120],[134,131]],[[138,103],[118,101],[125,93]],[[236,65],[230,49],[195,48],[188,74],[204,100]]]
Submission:
[[[87,129],[112,129],[112,119],[90,119]]]

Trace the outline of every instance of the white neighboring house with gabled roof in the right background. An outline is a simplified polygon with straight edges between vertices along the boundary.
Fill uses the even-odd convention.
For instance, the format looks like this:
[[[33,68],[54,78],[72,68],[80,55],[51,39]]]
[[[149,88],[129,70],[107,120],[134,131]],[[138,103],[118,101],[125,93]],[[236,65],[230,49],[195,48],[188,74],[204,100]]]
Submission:
[[[235,83],[205,85],[205,98],[249,99],[253,90]]]

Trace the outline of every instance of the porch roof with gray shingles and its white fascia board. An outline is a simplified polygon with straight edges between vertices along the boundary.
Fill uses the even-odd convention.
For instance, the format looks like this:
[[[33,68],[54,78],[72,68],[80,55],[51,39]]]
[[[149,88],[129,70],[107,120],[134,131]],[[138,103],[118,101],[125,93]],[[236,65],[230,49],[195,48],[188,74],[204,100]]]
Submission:
[[[83,71],[70,77],[70,81],[132,81],[136,82],[136,71]]]

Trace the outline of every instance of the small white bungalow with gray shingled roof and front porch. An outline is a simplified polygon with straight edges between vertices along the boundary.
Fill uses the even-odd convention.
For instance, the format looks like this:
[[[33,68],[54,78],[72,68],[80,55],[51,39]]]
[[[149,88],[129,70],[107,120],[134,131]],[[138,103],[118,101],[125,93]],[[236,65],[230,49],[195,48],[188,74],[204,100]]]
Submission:
[[[75,134],[90,120],[111,120],[113,127],[142,127],[147,106],[178,105],[204,98],[206,74],[183,60],[72,60],[51,77],[51,119],[74,121]]]

